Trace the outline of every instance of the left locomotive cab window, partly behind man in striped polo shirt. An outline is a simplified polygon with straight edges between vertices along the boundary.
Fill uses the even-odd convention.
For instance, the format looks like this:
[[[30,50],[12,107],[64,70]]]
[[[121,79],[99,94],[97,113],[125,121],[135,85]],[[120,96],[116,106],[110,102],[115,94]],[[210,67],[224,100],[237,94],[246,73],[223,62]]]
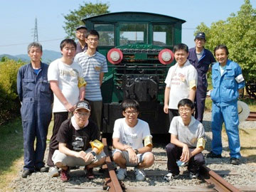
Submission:
[[[94,28],[100,35],[99,46],[114,46],[114,24],[95,24]]]

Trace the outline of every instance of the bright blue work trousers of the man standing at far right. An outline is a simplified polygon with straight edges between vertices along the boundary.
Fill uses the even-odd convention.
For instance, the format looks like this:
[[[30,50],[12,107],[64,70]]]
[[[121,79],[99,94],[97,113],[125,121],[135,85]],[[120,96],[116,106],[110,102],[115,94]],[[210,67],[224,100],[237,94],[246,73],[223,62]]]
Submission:
[[[223,146],[221,142],[221,130],[225,124],[225,130],[228,135],[228,146],[230,157],[240,158],[240,139],[238,130],[238,102],[233,102],[228,106],[221,107],[213,103],[212,111],[212,151],[215,154],[221,154]]]

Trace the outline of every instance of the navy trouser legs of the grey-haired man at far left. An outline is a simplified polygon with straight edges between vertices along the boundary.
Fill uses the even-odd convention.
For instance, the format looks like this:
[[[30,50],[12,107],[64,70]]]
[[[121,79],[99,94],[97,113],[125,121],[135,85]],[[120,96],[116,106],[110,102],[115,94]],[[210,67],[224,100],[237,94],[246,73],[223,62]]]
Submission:
[[[51,113],[45,113],[45,111],[41,110],[36,102],[26,102],[26,99],[21,105],[24,170],[34,171],[35,168],[40,169],[44,166],[43,157],[46,151],[48,125],[51,119]],[[35,139],[36,148],[34,147]]]

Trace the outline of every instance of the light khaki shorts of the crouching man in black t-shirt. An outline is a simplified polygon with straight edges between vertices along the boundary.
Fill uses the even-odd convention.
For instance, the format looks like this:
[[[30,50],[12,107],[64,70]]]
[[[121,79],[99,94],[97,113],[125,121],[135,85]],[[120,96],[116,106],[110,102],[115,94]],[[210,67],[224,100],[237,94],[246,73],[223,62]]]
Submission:
[[[87,149],[85,153],[86,154],[90,153],[90,151],[92,151],[92,148]],[[59,150],[55,150],[52,160],[53,160],[53,164],[61,162],[63,166],[87,166],[93,162],[100,161],[100,159],[102,159],[105,156],[106,154],[104,153],[104,151],[102,151],[100,154],[97,154],[95,158],[92,159],[92,161],[85,162],[85,160],[82,158],[78,158],[75,156],[67,156],[61,153]]]

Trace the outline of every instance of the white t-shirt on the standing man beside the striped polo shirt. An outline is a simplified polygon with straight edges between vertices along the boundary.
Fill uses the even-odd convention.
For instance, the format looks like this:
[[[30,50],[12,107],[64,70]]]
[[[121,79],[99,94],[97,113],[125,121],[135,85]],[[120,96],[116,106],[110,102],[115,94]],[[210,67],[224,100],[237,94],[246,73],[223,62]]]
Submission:
[[[79,100],[78,77],[82,78],[82,68],[78,63],[68,65],[58,58],[49,65],[48,81],[58,81],[58,87],[71,105],[75,105]],[[53,112],[67,111],[54,94]]]

